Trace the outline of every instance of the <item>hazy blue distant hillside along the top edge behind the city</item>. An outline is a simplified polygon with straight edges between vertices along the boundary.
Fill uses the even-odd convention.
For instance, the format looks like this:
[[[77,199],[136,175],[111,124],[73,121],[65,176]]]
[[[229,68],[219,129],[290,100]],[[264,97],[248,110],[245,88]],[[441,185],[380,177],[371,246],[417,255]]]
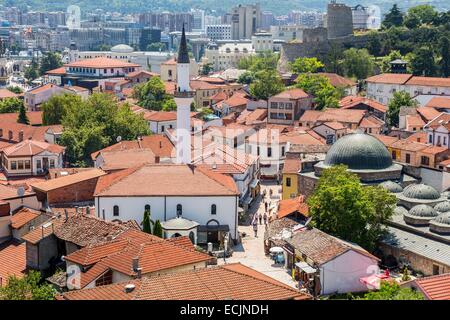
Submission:
[[[269,10],[275,14],[287,14],[291,10],[312,10],[320,9],[325,11],[329,0],[0,0],[0,4],[9,7],[29,8],[31,10],[54,11],[63,10],[71,4],[77,4],[83,11],[103,9],[106,11],[117,11],[122,13],[136,13],[144,11],[186,12],[191,8],[216,11],[218,14],[227,12],[232,6],[237,4],[247,4],[259,2],[262,10]],[[397,3],[402,10],[409,7],[423,4],[423,0],[341,0],[347,5],[378,5],[382,12],[387,11],[393,3]],[[438,10],[450,10],[448,0],[430,0]]]

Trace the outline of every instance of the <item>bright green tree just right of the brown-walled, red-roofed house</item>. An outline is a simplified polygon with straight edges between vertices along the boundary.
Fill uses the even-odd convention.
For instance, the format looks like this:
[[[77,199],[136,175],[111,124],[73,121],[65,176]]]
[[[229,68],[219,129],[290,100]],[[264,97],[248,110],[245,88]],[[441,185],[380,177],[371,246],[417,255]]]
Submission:
[[[311,73],[303,73],[298,76],[296,87],[314,96],[316,109],[337,108],[341,98],[339,90],[334,88],[328,78]]]

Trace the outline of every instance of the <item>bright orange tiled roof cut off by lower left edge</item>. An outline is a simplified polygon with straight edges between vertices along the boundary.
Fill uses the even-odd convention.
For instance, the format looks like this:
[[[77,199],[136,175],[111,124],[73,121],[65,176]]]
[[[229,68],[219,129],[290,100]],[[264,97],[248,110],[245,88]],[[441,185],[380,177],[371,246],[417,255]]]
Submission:
[[[22,278],[26,272],[26,244],[7,242],[0,245],[0,284],[7,285],[9,276]]]

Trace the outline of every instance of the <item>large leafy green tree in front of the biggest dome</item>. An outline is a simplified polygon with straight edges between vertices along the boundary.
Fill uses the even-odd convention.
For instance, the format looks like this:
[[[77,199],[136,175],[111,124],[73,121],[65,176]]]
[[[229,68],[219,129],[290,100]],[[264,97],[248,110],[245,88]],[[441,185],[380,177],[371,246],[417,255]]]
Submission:
[[[358,176],[338,165],[322,172],[308,204],[313,226],[372,251],[396,198],[380,187],[363,187]]]

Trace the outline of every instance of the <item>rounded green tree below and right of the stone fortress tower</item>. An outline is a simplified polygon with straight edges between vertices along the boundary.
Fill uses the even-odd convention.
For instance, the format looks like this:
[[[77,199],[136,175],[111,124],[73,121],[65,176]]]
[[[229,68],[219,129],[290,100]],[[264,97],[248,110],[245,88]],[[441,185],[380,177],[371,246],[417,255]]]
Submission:
[[[373,74],[374,67],[374,58],[367,49],[350,48],[344,51],[343,68],[347,77],[365,79]]]

